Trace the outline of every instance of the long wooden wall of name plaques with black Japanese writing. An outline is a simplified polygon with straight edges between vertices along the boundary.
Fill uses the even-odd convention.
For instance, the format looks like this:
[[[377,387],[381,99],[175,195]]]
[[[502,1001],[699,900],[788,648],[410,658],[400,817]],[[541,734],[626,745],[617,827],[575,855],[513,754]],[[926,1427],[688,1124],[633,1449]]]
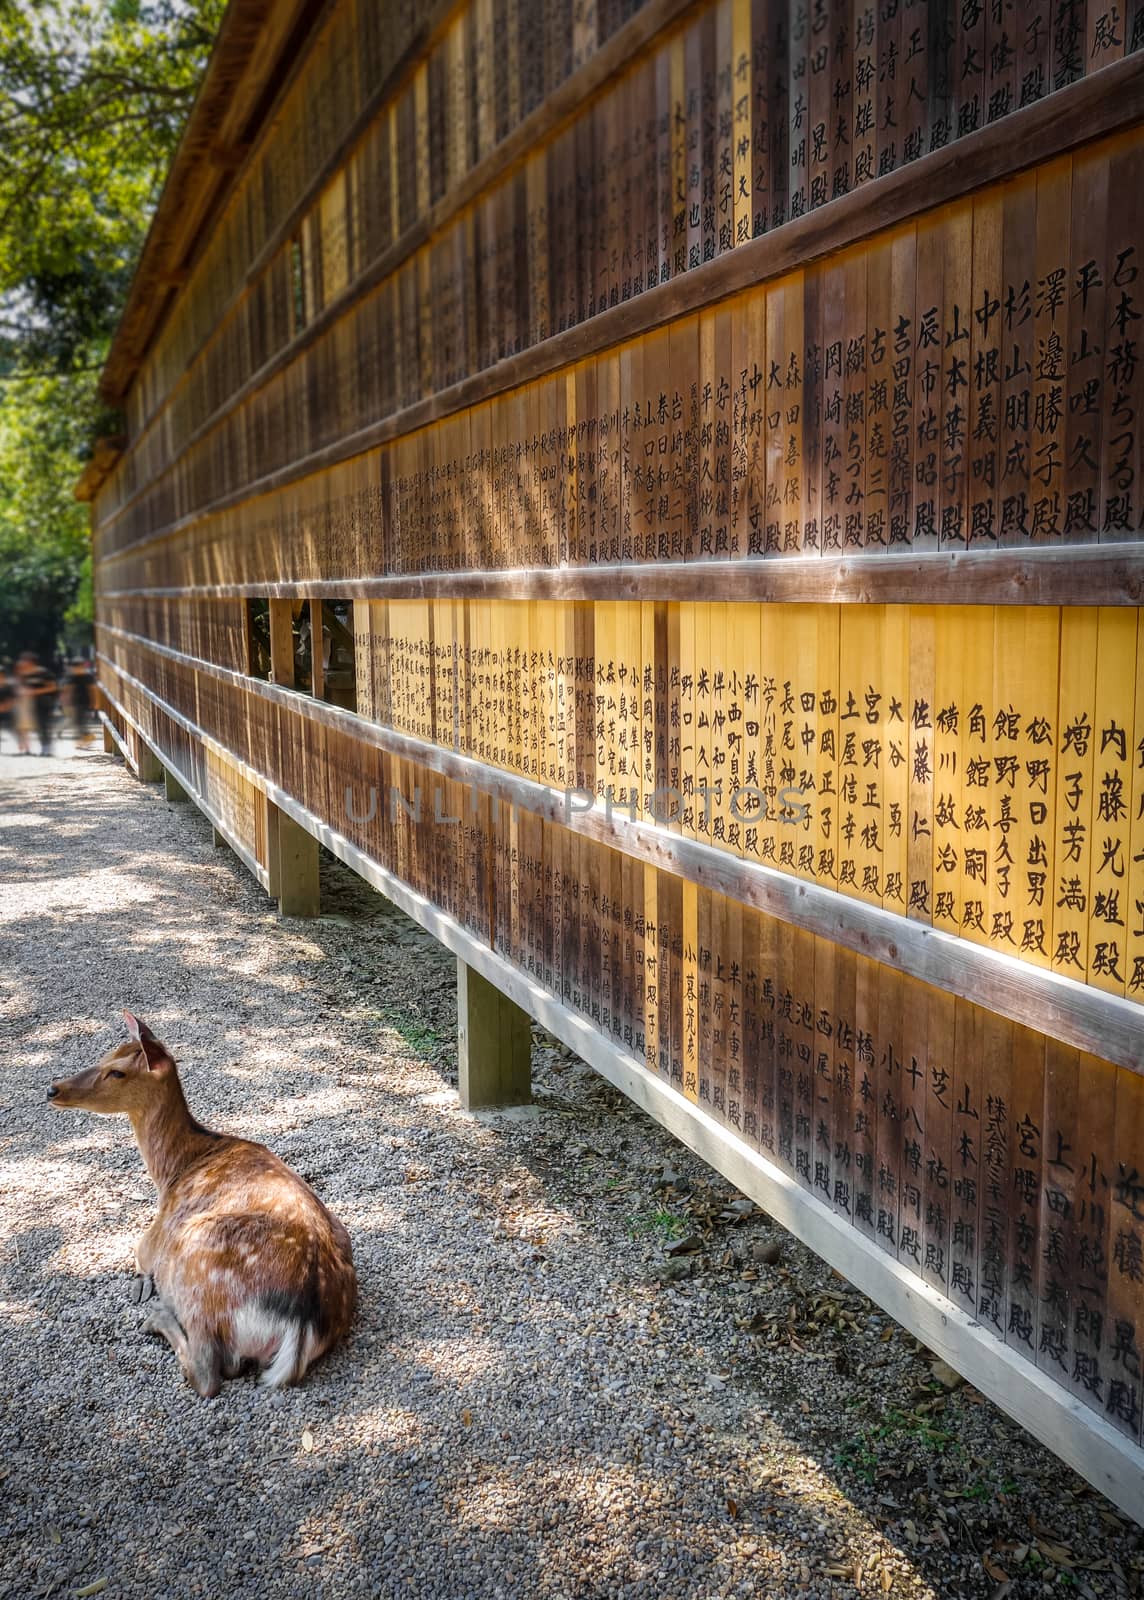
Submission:
[[[1141,1515],[1144,5],[382,11],[126,397],[117,726]],[[357,714],[251,677],[269,597],[354,603]]]

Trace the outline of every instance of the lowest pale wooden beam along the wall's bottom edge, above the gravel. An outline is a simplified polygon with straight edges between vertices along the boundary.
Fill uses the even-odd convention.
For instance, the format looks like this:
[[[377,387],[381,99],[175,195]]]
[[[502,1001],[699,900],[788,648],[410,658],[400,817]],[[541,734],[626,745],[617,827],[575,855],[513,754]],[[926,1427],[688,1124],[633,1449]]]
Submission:
[[[130,714],[118,709],[130,720]],[[242,765],[234,757],[230,760],[235,766]],[[1126,1515],[1144,1523],[1144,1474],[1133,1440],[291,795],[275,786],[267,786],[267,795],[379,894],[574,1050],[662,1128],[1062,1456]]]

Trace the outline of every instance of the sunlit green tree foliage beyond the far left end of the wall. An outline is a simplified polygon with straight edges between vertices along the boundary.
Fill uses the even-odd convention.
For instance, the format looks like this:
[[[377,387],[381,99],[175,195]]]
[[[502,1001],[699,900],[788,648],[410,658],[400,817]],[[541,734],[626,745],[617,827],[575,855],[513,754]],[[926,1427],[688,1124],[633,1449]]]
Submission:
[[[0,656],[77,603],[96,379],[222,8],[0,0]]]

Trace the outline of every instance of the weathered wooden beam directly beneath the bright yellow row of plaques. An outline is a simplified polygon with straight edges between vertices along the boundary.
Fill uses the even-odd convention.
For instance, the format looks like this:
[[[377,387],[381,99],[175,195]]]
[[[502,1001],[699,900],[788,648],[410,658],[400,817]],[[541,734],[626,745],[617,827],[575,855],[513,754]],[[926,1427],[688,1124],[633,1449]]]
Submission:
[[[138,634],[126,634],[122,629],[107,627],[107,624],[101,624],[101,630],[203,672],[218,682],[258,694],[373,749],[413,762],[440,778],[464,784],[474,792],[486,794],[498,805],[520,808],[544,822],[566,827],[570,832],[621,851],[634,861],[702,885],[744,906],[754,906],[768,917],[776,917],[795,928],[805,928],[808,933],[854,950],[858,955],[866,955],[894,971],[906,973],[909,978],[960,995],[997,1016],[1010,1018],[1024,1027],[1032,1027],[1077,1050],[1086,1050],[1144,1075],[1144,1008],[1122,995],[1104,994],[1088,984],[1077,982],[1075,978],[1064,978],[1059,973],[1034,966],[1030,962],[1005,955],[1002,950],[973,944],[970,939],[960,939],[941,928],[885,910],[882,906],[869,906],[821,883],[797,878],[760,862],[744,861],[714,845],[670,832],[656,822],[632,818],[621,808],[608,808],[602,802],[589,806],[586,795],[582,800],[576,798],[578,790],[571,790],[570,795],[570,792],[552,789],[547,784],[538,784],[470,755],[461,755],[458,750],[446,750],[438,744],[398,733],[382,723],[368,722],[354,712],[314,701],[310,696],[278,688],[274,683],[262,683],[259,678],[248,678],[229,667],[219,667],[214,662],[171,650],[168,645],[157,645]],[[101,659],[195,738],[218,747],[229,760],[238,760],[234,750],[176,712],[134,674],[117,666],[102,651]],[[267,773],[258,773],[254,768],[243,770],[262,789],[274,782]],[[365,798],[360,795],[355,803],[365,805]]]

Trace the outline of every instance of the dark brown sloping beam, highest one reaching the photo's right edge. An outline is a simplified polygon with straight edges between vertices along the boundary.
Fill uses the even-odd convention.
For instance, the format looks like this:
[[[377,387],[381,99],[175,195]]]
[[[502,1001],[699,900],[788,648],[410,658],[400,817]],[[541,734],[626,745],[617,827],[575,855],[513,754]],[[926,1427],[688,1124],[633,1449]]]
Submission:
[[[1000,122],[987,123],[909,166],[877,178],[838,200],[830,200],[816,211],[784,222],[782,227],[742,243],[715,261],[645,290],[643,294],[589,317],[574,328],[541,339],[517,355],[496,362],[331,445],[312,450],[286,467],[253,478],[242,488],[230,490],[186,517],[170,522],[165,528],[152,530],[141,539],[125,544],[115,555],[122,557],[157,539],[170,538],[205,517],[286,488],[302,477],[376,450],[403,434],[440,422],[466,406],[533,382],[562,366],[600,355],[626,339],[659,330],[678,317],[702,310],[784,272],[811,266],[824,256],[909,222],[936,206],[963,200],[974,190],[1011,178],[1037,162],[1066,155],[1077,146],[1118,133],[1142,120],[1144,54],[1138,53],[1125,56],[1114,66],[1101,67],[1091,77],[1069,83]],[[344,309],[349,310],[350,304],[352,301]],[[171,462],[138,493],[154,488],[174,470],[176,464]],[[125,501],[102,526],[112,528],[133,502],[134,496]]]

